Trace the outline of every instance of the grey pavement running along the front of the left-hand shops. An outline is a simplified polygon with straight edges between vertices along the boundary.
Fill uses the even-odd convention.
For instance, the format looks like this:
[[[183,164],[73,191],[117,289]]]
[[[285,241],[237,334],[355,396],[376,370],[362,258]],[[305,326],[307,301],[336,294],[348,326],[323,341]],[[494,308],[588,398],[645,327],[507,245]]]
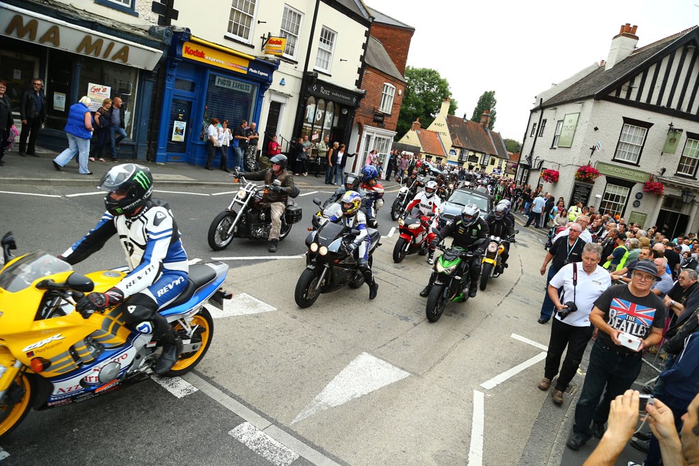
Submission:
[[[0,184],[7,189],[10,184],[29,184],[32,186],[94,186],[102,175],[114,166],[115,163],[129,163],[131,160],[119,159],[118,162],[89,162],[87,168],[94,175],[80,175],[78,163],[71,161],[61,171],[57,171],[52,159],[57,152],[36,148],[38,156],[22,157],[17,152],[18,145],[7,152],[3,158],[5,166],[0,167]],[[148,161],[133,161],[150,168],[151,173],[159,188],[193,188],[193,187],[230,187],[233,177],[223,170],[206,170],[200,166],[192,166],[189,163],[152,163]],[[398,187],[395,181],[381,181],[384,189],[392,191]],[[325,177],[315,177],[312,173],[308,176],[294,176],[294,183],[300,189],[336,189],[325,184]]]

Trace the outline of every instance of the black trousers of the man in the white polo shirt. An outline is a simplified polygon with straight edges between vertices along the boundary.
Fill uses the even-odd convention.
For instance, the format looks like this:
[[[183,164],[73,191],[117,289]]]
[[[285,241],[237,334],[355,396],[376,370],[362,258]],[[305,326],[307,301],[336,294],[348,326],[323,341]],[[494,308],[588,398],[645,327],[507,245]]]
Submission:
[[[575,377],[575,372],[582,361],[582,355],[590,341],[594,326],[575,327],[570,326],[559,319],[552,319],[551,338],[549,339],[549,351],[546,354],[546,365],[544,367],[544,377],[552,380],[559,374],[561,356],[563,350],[568,347],[561,367],[561,374],[556,381],[556,390],[565,391],[570,381]]]

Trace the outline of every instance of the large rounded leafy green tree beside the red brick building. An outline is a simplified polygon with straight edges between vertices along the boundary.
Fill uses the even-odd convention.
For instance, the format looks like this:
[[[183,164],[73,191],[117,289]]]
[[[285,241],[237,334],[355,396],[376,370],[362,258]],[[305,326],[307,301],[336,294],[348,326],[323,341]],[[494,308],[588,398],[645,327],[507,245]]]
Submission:
[[[410,130],[412,122],[420,119],[423,128],[432,124],[439,114],[442,101],[446,97],[451,97],[449,82],[431,68],[405,68],[405,80],[408,81],[403,93],[403,105],[398,114],[398,125],[396,126],[396,140],[403,137]],[[456,112],[456,101],[449,102],[449,115]]]

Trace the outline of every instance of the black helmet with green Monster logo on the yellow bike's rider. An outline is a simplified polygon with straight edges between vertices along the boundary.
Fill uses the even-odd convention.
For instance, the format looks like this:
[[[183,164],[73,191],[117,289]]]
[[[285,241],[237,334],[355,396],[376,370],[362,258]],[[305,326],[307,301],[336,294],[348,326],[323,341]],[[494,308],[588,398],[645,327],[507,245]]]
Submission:
[[[153,193],[153,176],[150,168],[136,163],[124,163],[110,168],[97,187],[106,191],[104,205],[112,215],[131,216],[150,199]],[[120,199],[113,198],[113,194]]]

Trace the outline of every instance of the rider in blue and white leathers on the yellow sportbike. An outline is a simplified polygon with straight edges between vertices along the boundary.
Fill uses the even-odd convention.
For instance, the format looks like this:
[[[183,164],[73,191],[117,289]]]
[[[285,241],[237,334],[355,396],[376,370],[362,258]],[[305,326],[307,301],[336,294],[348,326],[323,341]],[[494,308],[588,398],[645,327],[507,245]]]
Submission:
[[[99,189],[108,192],[107,212],[59,257],[71,265],[79,263],[118,235],[131,271],[105,293],[80,298],[77,308],[80,312],[102,311],[129,298],[122,305],[124,319],[145,333],[152,328],[163,345],[154,372],[165,374],[182,348],[178,334],[158,313],[187,287],[189,265],[180,232],[167,203],[150,197],[153,179],[148,168],[135,163],[115,166],[102,177]]]

